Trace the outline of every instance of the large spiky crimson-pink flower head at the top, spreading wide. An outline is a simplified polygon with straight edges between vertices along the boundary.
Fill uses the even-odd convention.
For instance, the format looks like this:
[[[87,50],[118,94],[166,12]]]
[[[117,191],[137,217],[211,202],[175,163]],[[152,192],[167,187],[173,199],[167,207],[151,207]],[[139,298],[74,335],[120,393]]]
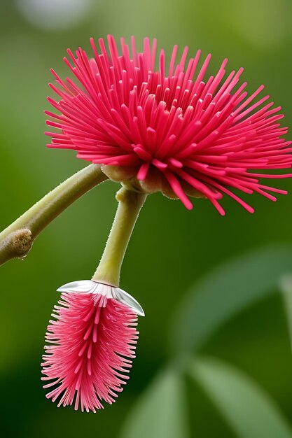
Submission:
[[[269,96],[258,97],[263,85],[251,94],[245,82],[238,85],[242,68],[226,77],[224,59],[216,75],[206,77],[211,55],[200,64],[200,50],[186,62],[188,48],[176,60],[175,45],[167,68],[161,50],[156,68],[156,40],[151,45],[146,38],[140,53],[132,38],[130,54],[121,38],[120,55],[113,36],[109,51],[102,39],[99,49],[90,41],[94,57],[79,48],[76,56],[68,50],[73,66],[64,58],[78,84],[62,81],[53,71],[60,88],[50,86],[60,100],[48,100],[61,114],[46,111],[53,118],[48,125],[58,130],[46,133],[52,137],[48,146],[118,167],[118,181],[127,175],[146,191],[172,192],[187,209],[193,207],[187,195],[194,192],[221,214],[223,194],[253,212],[233,189],[273,201],[269,192],[286,194],[260,178],[291,174],[256,173],[291,167],[291,141],[283,138],[287,128],[279,124],[281,107],[273,107]]]

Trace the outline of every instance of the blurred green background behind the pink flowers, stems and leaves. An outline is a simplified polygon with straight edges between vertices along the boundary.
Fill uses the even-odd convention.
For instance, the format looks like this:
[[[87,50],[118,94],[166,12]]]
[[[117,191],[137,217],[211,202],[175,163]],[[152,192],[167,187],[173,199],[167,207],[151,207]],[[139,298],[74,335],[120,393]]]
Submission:
[[[85,165],[73,152],[46,148],[43,135],[49,70],[53,67],[60,76],[66,74],[62,57],[68,47],[89,49],[90,36],[111,33],[129,38],[133,34],[140,48],[144,36],[149,36],[157,37],[159,47],[168,54],[175,43],[181,49],[189,45],[190,52],[198,48],[204,55],[211,52],[210,71],[228,57],[230,71],[245,67],[249,90],[266,85],[268,94],[283,107],[285,123],[291,125],[291,17],[291,0],[0,0],[1,227]],[[292,192],[292,181],[279,181],[277,187]],[[290,267],[292,271],[291,195],[279,197],[277,203],[258,195],[247,196],[256,207],[253,215],[224,199],[225,218],[204,200],[195,202],[189,212],[180,202],[162,195],[149,197],[127,251],[121,282],[146,311],[146,318],[139,321],[141,335],[130,382],[116,404],[97,414],[57,409],[46,400],[39,364],[46,325],[58,297],[55,290],[92,275],[116,209],[116,190],[113,183],[92,190],[39,236],[27,260],[13,260],[1,267],[0,411],[4,435],[266,438],[262,430],[240,432],[239,426],[234,427],[228,415],[218,409],[207,383],[202,385],[208,381],[213,382],[211,388],[217,388],[213,378],[223,388],[218,388],[218,394],[234,389],[234,411],[236,400],[245,400],[244,390],[225,376],[225,369],[222,374],[216,361],[200,359],[192,365],[191,373],[178,377],[181,364],[188,361],[186,356],[194,354],[193,346],[184,348],[185,343],[192,344],[192,337],[197,332],[200,337],[202,327],[214,321],[196,354],[216,357],[224,361],[220,364],[228,362],[241,369],[274,400],[281,418],[292,423],[291,344],[277,282]],[[258,253],[257,248],[262,247]],[[256,252],[247,262],[239,259],[239,267],[235,267],[236,257],[246,251]],[[204,311],[196,311],[193,302],[194,313],[190,313],[192,305],[183,306],[188,291],[192,297],[204,295],[204,287],[193,285],[202,276],[209,281],[208,273],[228,260],[231,264],[219,275],[224,279],[230,274],[232,281],[223,281],[216,290],[215,276],[210,286],[213,292],[206,292],[209,298],[205,302],[202,298]],[[237,280],[232,273],[241,266]],[[249,298],[242,304],[245,290]],[[223,310],[225,316],[216,324],[214,313],[218,309],[220,313],[221,306],[228,307],[229,302],[237,310]],[[169,373],[175,373],[179,383]],[[201,384],[193,381],[192,373]],[[160,397],[148,395],[145,402],[144,391],[149,391],[149,385],[158,388],[159,379],[166,379],[162,388],[166,388],[165,396],[162,390]],[[181,394],[181,383],[185,395]],[[221,401],[225,406],[223,398],[219,397],[219,404]],[[155,410],[143,407],[143,400]],[[176,405],[169,407],[169,400],[175,400]],[[227,403],[226,409],[232,416],[232,397],[228,400],[231,407]],[[256,417],[264,425],[272,414],[260,408],[261,402],[253,400],[253,412],[259,410]],[[140,414],[133,411],[139,406]],[[248,401],[242,401],[237,417],[245,418],[243,411],[248,406]],[[140,421],[141,411],[146,417]],[[181,416],[176,421],[178,412]],[[288,426],[283,428],[277,436],[270,436],[291,436]]]

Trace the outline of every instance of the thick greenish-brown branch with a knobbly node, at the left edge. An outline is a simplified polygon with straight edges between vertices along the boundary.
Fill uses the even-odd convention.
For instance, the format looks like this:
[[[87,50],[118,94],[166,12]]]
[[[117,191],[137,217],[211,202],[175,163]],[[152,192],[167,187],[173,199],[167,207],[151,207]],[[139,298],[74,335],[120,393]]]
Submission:
[[[34,204],[0,233],[0,265],[15,257],[25,257],[34,239],[46,226],[95,185],[108,177],[97,164],[81,169]]]

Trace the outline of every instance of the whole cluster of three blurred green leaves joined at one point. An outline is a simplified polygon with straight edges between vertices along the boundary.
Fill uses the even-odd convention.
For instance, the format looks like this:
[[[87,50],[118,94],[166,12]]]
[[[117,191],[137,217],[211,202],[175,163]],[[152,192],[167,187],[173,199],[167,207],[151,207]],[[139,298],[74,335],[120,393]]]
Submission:
[[[181,408],[188,404],[186,393],[183,396],[181,391],[183,372],[200,383],[235,436],[292,437],[291,425],[277,404],[256,383],[223,361],[197,355],[218,325],[280,287],[285,288],[289,318],[291,265],[291,246],[261,248],[223,264],[192,288],[178,311],[171,332],[171,341],[177,339],[172,369],[153,381],[148,393],[142,395],[138,406],[132,409],[122,438],[160,438],[163,423],[171,426],[173,438],[188,437],[188,417],[186,414],[181,416]],[[193,355],[195,359],[192,359]],[[174,409],[176,405],[179,408]],[[164,420],[166,412],[168,422]],[[165,431],[168,430],[166,425]]]

